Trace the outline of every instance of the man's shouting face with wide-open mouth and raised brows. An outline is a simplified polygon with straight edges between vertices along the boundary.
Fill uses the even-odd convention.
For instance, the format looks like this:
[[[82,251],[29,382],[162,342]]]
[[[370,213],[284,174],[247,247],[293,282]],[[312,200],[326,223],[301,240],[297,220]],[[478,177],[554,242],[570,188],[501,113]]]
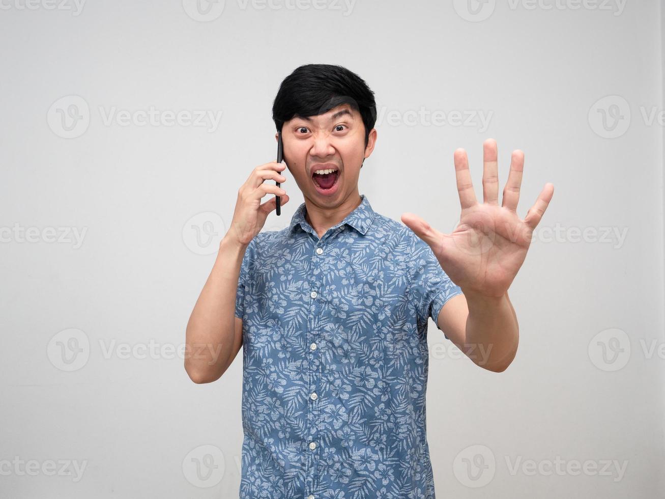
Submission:
[[[374,150],[376,129],[365,146],[362,117],[348,104],[325,114],[295,116],[282,128],[284,160],[303,196],[320,208],[336,208],[358,195],[362,160]],[[317,170],[336,170],[325,175]]]

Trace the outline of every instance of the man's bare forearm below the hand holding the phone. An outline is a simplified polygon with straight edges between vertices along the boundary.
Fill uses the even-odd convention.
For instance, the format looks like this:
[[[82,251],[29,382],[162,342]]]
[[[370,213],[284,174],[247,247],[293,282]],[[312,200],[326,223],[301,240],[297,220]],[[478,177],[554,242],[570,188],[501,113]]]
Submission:
[[[197,383],[218,379],[235,339],[235,299],[247,246],[224,238],[186,331],[185,370]]]

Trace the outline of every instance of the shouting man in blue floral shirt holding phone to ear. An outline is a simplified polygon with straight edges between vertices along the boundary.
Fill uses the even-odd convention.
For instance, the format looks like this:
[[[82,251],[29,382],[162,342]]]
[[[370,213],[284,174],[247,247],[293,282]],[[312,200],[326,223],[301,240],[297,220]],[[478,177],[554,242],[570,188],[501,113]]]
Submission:
[[[434,498],[428,318],[483,369],[508,367],[518,325],[507,290],[553,186],[520,220],[515,151],[499,206],[497,148],[487,140],[484,202],[456,150],[460,224],[442,234],[406,213],[405,227],[358,192],[376,144],[376,104],[362,79],[299,67],[281,84],[273,120],[287,166],[257,166],[238,191],[186,333],[190,351],[208,345],[198,351],[219,355],[187,356],[186,371],[215,381],[243,347],[241,498]],[[289,201],[273,183],[287,181],[285,168],[305,202],[289,227],[260,232],[275,196]]]

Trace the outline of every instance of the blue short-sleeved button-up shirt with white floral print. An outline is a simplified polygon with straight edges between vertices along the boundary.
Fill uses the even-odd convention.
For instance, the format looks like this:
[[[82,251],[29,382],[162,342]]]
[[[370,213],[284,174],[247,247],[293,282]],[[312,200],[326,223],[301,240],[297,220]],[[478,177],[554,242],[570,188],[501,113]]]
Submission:
[[[259,232],[235,305],[240,497],[434,498],[428,318],[460,293],[432,249],[364,194],[322,238],[305,203],[288,228]]]

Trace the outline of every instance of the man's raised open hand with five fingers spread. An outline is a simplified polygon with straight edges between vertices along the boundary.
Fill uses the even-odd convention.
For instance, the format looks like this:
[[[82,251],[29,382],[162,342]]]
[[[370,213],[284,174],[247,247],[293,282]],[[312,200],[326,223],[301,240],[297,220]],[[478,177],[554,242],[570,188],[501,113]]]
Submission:
[[[483,203],[475,198],[466,151],[455,151],[455,175],[462,214],[451,234],[442,234],[422,218],[402,214],[402,222],[424,240],[436,255],[448,277],[465,293],[501,297],[510,287],[527,256],[531,234],[539,224],[554,193],[545,184],[527,216],[517,216],[524,154],[513,151],[508,180],[499,206],[497,144],[483,143]]]

